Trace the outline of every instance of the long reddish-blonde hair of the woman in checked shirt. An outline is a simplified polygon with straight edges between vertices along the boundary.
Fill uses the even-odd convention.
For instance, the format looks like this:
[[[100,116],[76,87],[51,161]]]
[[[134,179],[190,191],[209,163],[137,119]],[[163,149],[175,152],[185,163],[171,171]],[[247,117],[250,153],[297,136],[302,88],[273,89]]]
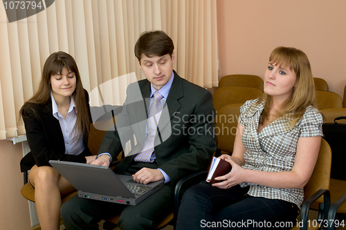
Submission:
[[[290,119],[288,126],[293,128],[302,118],[308,106],[316,107],[315,84],[309,59],[302,50],[279,46],[271,52],[269,63],[289,68],[297,77],[291,97],[286,99],[280,107],[281,110],[278,111],[279,117],[286,116]],[[262,121],[265,121],[268,119],[273,97],[264,93],[257,103],[263,101],[265,106]]]

